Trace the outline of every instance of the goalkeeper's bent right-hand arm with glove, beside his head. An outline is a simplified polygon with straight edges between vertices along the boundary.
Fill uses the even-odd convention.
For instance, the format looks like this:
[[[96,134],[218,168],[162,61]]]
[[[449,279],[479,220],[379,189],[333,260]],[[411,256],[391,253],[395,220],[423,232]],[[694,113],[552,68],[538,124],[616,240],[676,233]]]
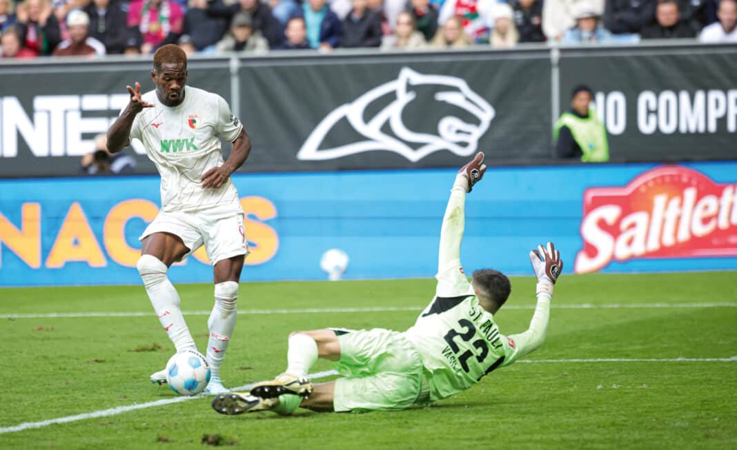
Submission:
[[[532,250],[530,261],[537,276],[537,306],[532,314],[530,328],[524,333],[513,334],[507,338],[511,340],[509,344],[514,354],[509,361],[505,361],[505,365],[537,349],[545,341],[545,335],[548,333],[553,285],[563,269],[563,261],[551,242],[548,242],[546,247],[539,245],[537,250]]]

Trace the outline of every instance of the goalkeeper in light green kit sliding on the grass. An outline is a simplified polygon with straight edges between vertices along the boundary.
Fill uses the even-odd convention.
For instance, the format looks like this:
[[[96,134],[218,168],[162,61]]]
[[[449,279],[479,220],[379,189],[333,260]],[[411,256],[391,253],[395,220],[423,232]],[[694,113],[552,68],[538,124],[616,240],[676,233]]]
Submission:
[[[509,297],[509,278],[497,270],[477,270],[469,283],[461,267],[466,193],[485,171],[483,153],[478,153],[455,177],[441,228],[436,296],[413,327],[404,333],[381,328],[295,331],[282,375],[249,393],[217,395],[212,407],[227,415],[263,410],[289,415],[299,407],[407,409],[461,393],[542,345],[553,284],[562,269],[551,243],[530,252],[538,279],[537,307],[522,334],[504,336],[493,316]],[[313,385],[307,373],[318,358],[335,362],[342,377]]]

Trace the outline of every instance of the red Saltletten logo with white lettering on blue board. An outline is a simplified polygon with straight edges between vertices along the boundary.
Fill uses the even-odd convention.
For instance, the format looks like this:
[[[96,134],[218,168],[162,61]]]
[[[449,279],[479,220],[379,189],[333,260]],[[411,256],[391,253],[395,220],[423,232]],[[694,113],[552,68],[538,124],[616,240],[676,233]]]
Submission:
[[[587,189],[581,238],[576,273],[612,259],[737,256],[737,183],[660,166],[624,187]]]

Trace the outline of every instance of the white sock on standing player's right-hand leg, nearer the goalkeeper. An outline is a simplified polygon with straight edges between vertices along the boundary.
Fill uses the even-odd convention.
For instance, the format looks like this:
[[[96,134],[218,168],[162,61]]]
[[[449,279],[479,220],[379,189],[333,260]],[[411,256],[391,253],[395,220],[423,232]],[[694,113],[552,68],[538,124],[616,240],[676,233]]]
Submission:
[[[207,363],[210,379],[220,381],[220,365],[226,357],[228,343],[233,336],[238,306],[238,283],[223,281],[215,284],[215,304],[207,320],[210,337],[207,341]]]

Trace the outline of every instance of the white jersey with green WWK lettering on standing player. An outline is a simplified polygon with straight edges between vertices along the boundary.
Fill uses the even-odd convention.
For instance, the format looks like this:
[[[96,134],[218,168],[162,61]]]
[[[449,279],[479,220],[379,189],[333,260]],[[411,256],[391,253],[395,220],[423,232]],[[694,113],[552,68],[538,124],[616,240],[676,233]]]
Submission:
[[[223,165],[220,137],[232,142],[243,128],[223,97],[185,86],[184,102],[175,107],[158,100],[156,91],[142,95],[144,108],[130,128],[130,139],[142,141],[161,175],[161,211],[196,211],[233,205],[242,212],[233,182],[203,189],[200,177]]]

